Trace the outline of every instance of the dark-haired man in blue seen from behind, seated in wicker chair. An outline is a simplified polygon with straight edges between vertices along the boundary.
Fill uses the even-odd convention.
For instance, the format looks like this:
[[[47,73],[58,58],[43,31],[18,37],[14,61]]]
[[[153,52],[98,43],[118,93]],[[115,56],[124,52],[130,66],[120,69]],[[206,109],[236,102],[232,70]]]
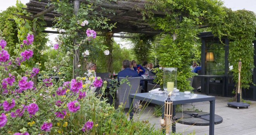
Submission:
[[[131,70],[129,60],[123,61],[123,68],[124,70],[118,72],[118,80],[119,77],[138,77],[138,72]]]

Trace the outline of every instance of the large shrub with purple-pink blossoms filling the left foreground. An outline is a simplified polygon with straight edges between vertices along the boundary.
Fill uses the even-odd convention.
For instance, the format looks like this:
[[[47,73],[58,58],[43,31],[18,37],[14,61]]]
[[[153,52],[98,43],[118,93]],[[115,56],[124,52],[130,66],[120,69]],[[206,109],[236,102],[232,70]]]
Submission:
[[[88,38],[95,38],[96,32],[89,32]],[[0,72],[0,135],[118,135],[127,134],[126,128],[129,129],[128,134],[162,133],[154,131],[147,123],[131,123],[121,107],[114,109],[106,103],[107,99],[102,94],[95,96],[94,92],[90,92],[93,87],[102,87],[104,92],[107,83],[103,83],[100,77],[86,76],[55,82],[49,75],[50,71],[40,70],[40,63],[32,69],[26,68],[23,63],[33,57],[33,37],[29,32],[27,39],[19,46],[20,53],[11,57],[3,50],[5,42],[0,41],[0,70],[3,71]],[[59,62],[54,72],[59,72],[62,63]],[[19,65],[24,69],[22,74],[15,71]],[[35,85],[33,80],[38,73],[42,75],[42,80]],[[87,80],[90,83],[85,84]]]

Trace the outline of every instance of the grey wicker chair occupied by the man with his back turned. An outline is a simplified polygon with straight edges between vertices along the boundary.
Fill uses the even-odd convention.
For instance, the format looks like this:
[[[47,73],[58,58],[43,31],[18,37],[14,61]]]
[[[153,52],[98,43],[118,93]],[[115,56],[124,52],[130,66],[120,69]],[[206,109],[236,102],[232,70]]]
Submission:
[[[128,95],[141,92],[142,86],[140,86],[140,77],[119,77],[119,80],[122,79],[128,79],[131,85],[129,86],[126,83],[120,84],[120,87],[118,87],[118,101],[119,105],[123,103],[125,108],[129,108]],[[135,107],[138,101],[137,99],[133,100],[133,107]]]

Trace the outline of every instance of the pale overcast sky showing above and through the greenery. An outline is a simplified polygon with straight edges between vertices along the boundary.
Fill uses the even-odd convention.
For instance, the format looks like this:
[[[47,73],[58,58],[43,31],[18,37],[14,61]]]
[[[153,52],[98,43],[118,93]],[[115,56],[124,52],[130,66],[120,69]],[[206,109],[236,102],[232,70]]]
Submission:
[[[28,3],[29,0],[20,0],[21,3]],[[231,8],[232,10],[240,10],[240,9],[246,9],[253,11],[256,13],[256,0],[222,0],[224,2],[224,6]],[[1,10],[6,10],[10,6],[15,6],[16,0],[0,0],[0,12]],[[51,28],[47,28],[47,30],[52,30]],[[54,30],[52,30],[54,31]],[[49,34],[48,38],[52,43],[55,43],[54,38],[57,36],[57,34]],[[127,41],[123,41],[121,38],[114,38],[116,43],[121,44],[122,46],[127,46],[127,44],[130,44]]]

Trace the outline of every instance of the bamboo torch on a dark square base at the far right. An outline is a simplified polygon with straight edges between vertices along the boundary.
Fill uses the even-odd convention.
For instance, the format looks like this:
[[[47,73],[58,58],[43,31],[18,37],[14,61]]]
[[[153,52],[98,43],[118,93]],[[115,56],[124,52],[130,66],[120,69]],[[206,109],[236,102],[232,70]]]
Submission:
[[[247,103],[240,102],[240,73],[241,73],[241,67],[242,67],[242,62],[239,60],[239,62],[238,62],[237,102],[228,102],[227,103],[228,107],[229,106],[235,106],[235,107],[237,107],[237,109],[239,109],[239,107],[248,108],[248,106],[250,106]]]

